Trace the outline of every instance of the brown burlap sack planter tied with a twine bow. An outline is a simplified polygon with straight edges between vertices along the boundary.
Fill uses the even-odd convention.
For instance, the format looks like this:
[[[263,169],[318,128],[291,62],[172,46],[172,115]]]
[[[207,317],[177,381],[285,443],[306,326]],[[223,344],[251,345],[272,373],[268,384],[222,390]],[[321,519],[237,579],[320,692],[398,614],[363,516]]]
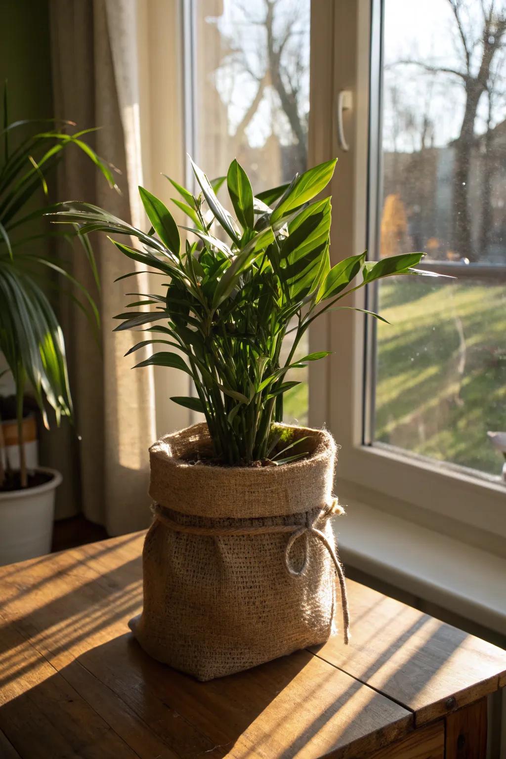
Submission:
[[[310,436],[310,455],[279,467],[193,465],[206,424],[150,449],[154,519],[143,550],[143,613],[130,622],[155,659],[199,680],[229,675],[320,644],[331,635],[335,575],[344,577],[328,517],[335,442]]]

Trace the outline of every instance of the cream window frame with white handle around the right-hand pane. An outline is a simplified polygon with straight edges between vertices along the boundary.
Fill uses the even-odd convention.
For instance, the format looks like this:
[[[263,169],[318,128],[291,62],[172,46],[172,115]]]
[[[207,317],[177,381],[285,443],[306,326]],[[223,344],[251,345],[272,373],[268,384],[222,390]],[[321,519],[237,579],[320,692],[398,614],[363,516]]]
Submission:
[[[310,157],[316,162],[338,156],[332,181],[332,264],[366,250],[368,242],[369,257],[375,254],[375,241],[373,235],[368,241],[367,230],[375,233],[378,228],[376,203],[369,203],[368,186],[379,183],[379,140],[373,123],[380,113],[379,3],[313,0]],[[340,90],[353,93],[353,108],[344,114],[350,143],[347,153],[336,139]],[[332,136],[321,134],[322,124],[332,128]],[[344,302],[363,308],[364,295],[363,290],[357,291]],[[482,543],[487,543],[489,533],[506,537],[506,488],[498,479],[390,446],[364,444],[366,329],[363,314],[342,310],[322,317],[310,334],[312,351],[333,351],[326,366],[319,362],[310,370],[310,424],[326,424],[341,445],[336,492],[344,489],[347,498],[432,524],[432,528],[438,524],[434,522],[438,515],[444,518],[442,531],[464,535],[475,544],[477,535]]]

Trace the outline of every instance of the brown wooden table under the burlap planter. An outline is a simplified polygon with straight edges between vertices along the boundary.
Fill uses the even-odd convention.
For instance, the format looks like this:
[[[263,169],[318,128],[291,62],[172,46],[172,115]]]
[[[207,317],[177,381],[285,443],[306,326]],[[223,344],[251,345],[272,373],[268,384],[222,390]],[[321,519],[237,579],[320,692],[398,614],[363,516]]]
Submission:
[[[485,757],[503,650],[350,582],[347,649],[335,637],[196,682],[128,631],[142,541],[0,568],[2,759]]]

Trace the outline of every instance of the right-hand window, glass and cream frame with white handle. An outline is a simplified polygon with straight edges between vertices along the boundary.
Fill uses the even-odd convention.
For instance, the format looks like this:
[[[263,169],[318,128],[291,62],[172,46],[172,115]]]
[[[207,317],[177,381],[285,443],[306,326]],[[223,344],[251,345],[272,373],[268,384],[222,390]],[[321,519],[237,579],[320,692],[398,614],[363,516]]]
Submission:
[[[431,260],[423,266],[457,279],[392,278],[376,291],[369,288],[366,297],[363,290],[350,295],[347,305],[380,310],[391,325],[350,310],[329,314],[319,326],[325,335],[310,335],[312,350],[318,344],[333,351],[325,376],[311,377],[310,419],[328,424],[341,445],[338,492],[350,508],[354,499],[362,500],[420,524],[438,524],[487,549],[491,533],[498,540],[506,537],[501,457],[486,436],[506,422],[501,353],[506,256],[499,207],[504,157],[495,157],[492,173],[477,168],[484,166],[480,145],[488,132],[487,94],[482,93],[472,162],[463,180],[470,183],[465,207],[473,247],[461,248],[466,253],[456,256],[457,238],[463,241],[464,233],[454,222],[455,205],[462,207],[463,196],[457,190],[455,200],[449,193],[454,167],[448,153],[455,152],[460,134],[464,88],[458,74],[450,85],[446,72],[428,67],[456,68],[451,56],[457,55],[460,36],[457,31],[454,39],[448,31],[454,20],[449,0],[428,5],[411,0],[317,5],[322,68],[319,77],[315,67],[312,74],[324,88],[323,116],[315,113],[313,88],[316,129],[310,128],[310,146],[316,134],[320,143],[327,140],[325,155],[339,159],[332,183],[332,263],[366,249],[370,259],[425,248]],[[467,33],[478,40],[470,55],[472,74],[481,33],[476,14],[489,3],[462,0],[458,5],[465,11]],[[325,17],[324,8],[332,18]],[[504,78],[504,53],[497,55],[493,66]],[[416,62],[407,60],[415,56]],[[427,80],[432,76],[437,84]],[[353,106],[343,117],[348,151],[337,139],[335,108],[342,90],[353,94]],[[506,113],[499,100],[494,108],[490,126],[498,135]],[[319,128],[327,120],[330,140]],[[484,203],[479,182],[491,177],[491,200]],[[483,213],[489,213],[486,250],[476,243]]]

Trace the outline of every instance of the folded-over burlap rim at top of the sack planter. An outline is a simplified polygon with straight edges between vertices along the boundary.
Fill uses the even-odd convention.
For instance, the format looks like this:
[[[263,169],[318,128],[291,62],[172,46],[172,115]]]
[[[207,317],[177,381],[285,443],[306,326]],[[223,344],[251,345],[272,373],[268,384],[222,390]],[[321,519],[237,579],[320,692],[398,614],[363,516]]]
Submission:
[[[328,430],[278,427],[290,429],[295,438],[307,437],[310,455],[279,467],[195,465],[184,458],[209,449],[205,423],[163,436],[149,449],[152,501],[182,514],[212,518],[286,516],[321,509],[332,499],[334,438]]]

